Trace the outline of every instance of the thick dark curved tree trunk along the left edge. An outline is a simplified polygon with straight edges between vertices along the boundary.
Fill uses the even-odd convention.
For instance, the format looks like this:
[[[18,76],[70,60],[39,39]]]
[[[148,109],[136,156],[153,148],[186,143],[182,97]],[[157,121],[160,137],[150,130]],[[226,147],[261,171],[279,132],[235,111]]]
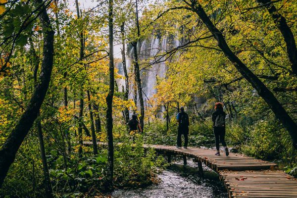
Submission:
[[[36,0],[35,3],[38,6],[42,3],[42,0]],[[10,165],[15,159],[17,150],[21,146],[38,116],[39,109],[49,88],[49,80],[53,63],[54,31],[51,28],[49,15],[45,7],[43,7],[41,11],[40,21],[44,31],[43,62],[41,75],[39,77],[40,82],[36,86],[25,112],[0,149],[0,188],[4,182],[4,178],[7,175]]]

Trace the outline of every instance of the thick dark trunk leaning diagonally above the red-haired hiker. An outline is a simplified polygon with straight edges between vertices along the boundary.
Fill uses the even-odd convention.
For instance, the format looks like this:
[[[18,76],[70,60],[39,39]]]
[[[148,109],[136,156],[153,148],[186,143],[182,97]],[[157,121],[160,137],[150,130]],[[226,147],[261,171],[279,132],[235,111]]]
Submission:
[[[218,46],[224,54],[228,57],[228,59],[233,63],[236,69],[242,74],[242,76],[247,79],[247,81],[252,85],[252,87],[258,92],[259,96],[265,100],[270,109],[273,111],[275,116],[282,122],[283,126],[289,131],[289,134],[292,138],[293,146],[297,148],[297,124],[290,117],[281,103],[275,98],[272,92],[264,85],[262,81],[258,79],[258,77],[253,74],[236,55],[229,48],[226,40],[221,31],[219,31],[211,22],[207,14],[205,13],[202,6],[198,3],[197,0],[192,0],[191,4],[189,4],[186,0],[183,0],[188,5],[191,6],[193,11],[195,11],[203,23],[206,25],[208,30],[213,34],[214,38],[218,42]]]

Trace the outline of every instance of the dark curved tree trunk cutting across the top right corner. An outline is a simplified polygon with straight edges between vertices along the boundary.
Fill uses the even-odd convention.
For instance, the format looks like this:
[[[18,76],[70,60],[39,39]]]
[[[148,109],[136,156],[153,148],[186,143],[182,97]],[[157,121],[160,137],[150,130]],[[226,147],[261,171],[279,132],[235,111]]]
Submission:
[[[259,3],[263,4],[271,15],[276,27],[282,33],[285,43],[287,45],[287,53],[292,63],[292,71],[297,76],[297,49],[294,39],[294,35],[287,24],[286,18],[282,16],[274,6],[271,0],[257,0]]]

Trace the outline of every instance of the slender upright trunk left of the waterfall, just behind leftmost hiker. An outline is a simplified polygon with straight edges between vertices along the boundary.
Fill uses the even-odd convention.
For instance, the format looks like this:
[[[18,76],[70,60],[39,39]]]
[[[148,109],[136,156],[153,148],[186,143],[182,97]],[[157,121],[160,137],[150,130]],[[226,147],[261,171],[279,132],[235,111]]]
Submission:
[[[124,75],[125,75],[125,93],[124,93],[124,99],[129,99],[129,76],[127,72],[127,66],[126,66],[126,52],[125,52],[125,22],[122,22],[121,25],[121,35],[122,35],[122,63],[123,63],[123,69],[124,69]],[[129,109],[125,107],[124,110],[125,113],[125,119],[126,123],[129,122]]]

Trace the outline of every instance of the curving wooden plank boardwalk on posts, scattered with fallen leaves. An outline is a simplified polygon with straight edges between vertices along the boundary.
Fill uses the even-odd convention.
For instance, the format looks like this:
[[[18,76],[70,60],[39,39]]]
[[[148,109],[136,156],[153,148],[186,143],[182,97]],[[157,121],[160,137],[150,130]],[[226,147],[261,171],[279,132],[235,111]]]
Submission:
[[[204,163],[219,174],[230,198],[297,198],[297,179],[277,170],[275,163],[237,153],[226,156],[221,152],[221,156],[217,156],[212,149],[185,149],[164,145],[144,145],[144,148],[154,148],[167,155],[168,162],[171,162],[171,155],[183,155],[185,164],[186,157],[192,157],[198,162],[201,174]]]

